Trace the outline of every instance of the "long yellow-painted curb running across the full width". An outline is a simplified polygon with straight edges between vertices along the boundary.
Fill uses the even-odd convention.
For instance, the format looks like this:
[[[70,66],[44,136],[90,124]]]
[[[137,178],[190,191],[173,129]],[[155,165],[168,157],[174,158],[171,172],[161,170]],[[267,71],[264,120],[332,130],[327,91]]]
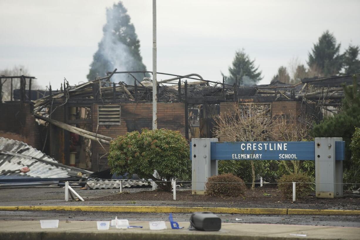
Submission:
[[[81,211],[127,213],[233,213],[254,215],[360,215],[360,210],[291,208],[217,208],[180,206],[0,206],[0,211]]]

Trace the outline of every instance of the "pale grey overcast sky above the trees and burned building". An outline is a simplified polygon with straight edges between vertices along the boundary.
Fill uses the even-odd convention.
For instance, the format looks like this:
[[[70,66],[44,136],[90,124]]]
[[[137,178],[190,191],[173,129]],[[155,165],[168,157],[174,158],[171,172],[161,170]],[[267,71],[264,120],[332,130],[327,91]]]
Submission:
[[[24,65],[42,86],[87,81],[113,0],[0,0],[0,70]],[[122,1],[135,26],[141,55],[152,71],[152,0]],[[219,81],[236,50],[244,49],[270,83],[279,66],[306,63],[325,31],[360,45],[359,0],[158,0],[159,72],[197,73]],[[116,66],[118,71],[125,71]],[[159,76],[159,79],[166,79]]]

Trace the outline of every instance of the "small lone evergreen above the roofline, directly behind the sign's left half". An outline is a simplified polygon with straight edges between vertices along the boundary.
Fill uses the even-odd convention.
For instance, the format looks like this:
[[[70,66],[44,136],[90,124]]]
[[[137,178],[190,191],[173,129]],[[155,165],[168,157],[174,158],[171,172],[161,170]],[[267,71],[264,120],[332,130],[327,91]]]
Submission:
[[[229,67],[230,75],[225,77],[225,82],[228,84],[234,84],[235,79],[238,79],[238,83],[241,85],[253,85],[262,79],[261,71],[258,71],[259,67],[255,67],[255,60],[251,61],[249,55],[244,50],[236,51],[232,67]]]

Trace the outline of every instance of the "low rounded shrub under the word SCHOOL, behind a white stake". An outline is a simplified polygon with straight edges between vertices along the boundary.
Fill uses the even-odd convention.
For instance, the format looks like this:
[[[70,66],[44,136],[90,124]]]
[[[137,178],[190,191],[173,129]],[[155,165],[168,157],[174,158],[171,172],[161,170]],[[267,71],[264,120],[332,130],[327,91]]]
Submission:
[[[305,173],[283,175],[278,181],[278,188],[287,199],[292,199],[292,182],[296,182],[296,198],[302,198],[309,195],[313,189],[314,179]]]

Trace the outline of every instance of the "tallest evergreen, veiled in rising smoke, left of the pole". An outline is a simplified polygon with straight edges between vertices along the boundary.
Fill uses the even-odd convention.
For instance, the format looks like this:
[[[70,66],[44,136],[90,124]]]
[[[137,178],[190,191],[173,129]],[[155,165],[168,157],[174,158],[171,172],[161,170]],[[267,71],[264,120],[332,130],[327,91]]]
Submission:
[[[118,2],[112,8],[106,9],[107,22],[103,27],[103,38],[99,48],[93,56],[90,71],[87,75],[89,81],[96,76],[105,76],[107,71],[117,68],[118,71],[146,71],[140,55],[140,41],[135,33],[135,27],[130,23],[123,4]],[[141,81],[144,74],[134,74]],[[147,76],[149,76],[147,74]],[[114,78],[114,79],[113,79]],[[127,75],[113,76],[113,80],[130,81],[134,79]]]

